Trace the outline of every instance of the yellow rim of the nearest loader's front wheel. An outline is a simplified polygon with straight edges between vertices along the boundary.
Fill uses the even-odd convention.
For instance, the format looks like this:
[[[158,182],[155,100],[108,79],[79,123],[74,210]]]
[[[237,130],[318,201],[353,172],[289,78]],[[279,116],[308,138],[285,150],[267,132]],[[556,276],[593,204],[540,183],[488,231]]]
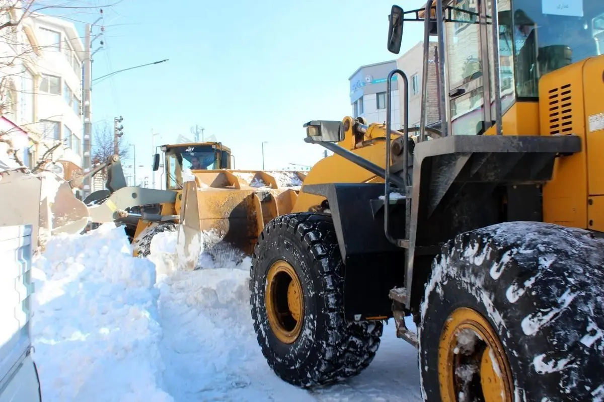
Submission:
[[[302,330],[304,296],[294,267],[276,261],[268,270],[266,313],[272,332],[283,343],[294,343]]]

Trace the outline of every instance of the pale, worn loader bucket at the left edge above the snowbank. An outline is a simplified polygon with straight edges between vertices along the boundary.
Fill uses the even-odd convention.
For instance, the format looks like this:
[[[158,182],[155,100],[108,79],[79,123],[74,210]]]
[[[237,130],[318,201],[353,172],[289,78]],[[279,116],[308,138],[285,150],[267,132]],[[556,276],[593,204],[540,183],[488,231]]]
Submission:
[[[33,225],[33,237],[76,234],[88,224],[88,208],[57,174],[24,169],[0,173],[0,226]]]

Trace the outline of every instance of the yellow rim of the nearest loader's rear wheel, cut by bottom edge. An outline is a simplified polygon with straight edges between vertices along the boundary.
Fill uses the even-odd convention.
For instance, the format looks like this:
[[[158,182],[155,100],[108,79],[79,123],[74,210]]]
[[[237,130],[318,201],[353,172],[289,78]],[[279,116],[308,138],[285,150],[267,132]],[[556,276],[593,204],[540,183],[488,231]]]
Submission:
[[[512,401],[512,371],[503,346],[487,319],[471,308],[458,308],[445,322],[439,382],[443,402]]]

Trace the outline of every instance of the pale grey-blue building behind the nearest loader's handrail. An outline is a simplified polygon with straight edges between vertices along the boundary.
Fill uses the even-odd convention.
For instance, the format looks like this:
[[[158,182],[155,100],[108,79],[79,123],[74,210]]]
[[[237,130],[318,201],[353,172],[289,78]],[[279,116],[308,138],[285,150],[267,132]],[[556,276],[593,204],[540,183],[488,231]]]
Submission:
[[[362,117],[371,123],[386,122],[386,81],[388,73],[396,68],[396,60],[359,67],[349,77],[350,104],[353,117]],[[399,77],[392,80],[391,118],[392,129],[402,128],[400,121]]]

